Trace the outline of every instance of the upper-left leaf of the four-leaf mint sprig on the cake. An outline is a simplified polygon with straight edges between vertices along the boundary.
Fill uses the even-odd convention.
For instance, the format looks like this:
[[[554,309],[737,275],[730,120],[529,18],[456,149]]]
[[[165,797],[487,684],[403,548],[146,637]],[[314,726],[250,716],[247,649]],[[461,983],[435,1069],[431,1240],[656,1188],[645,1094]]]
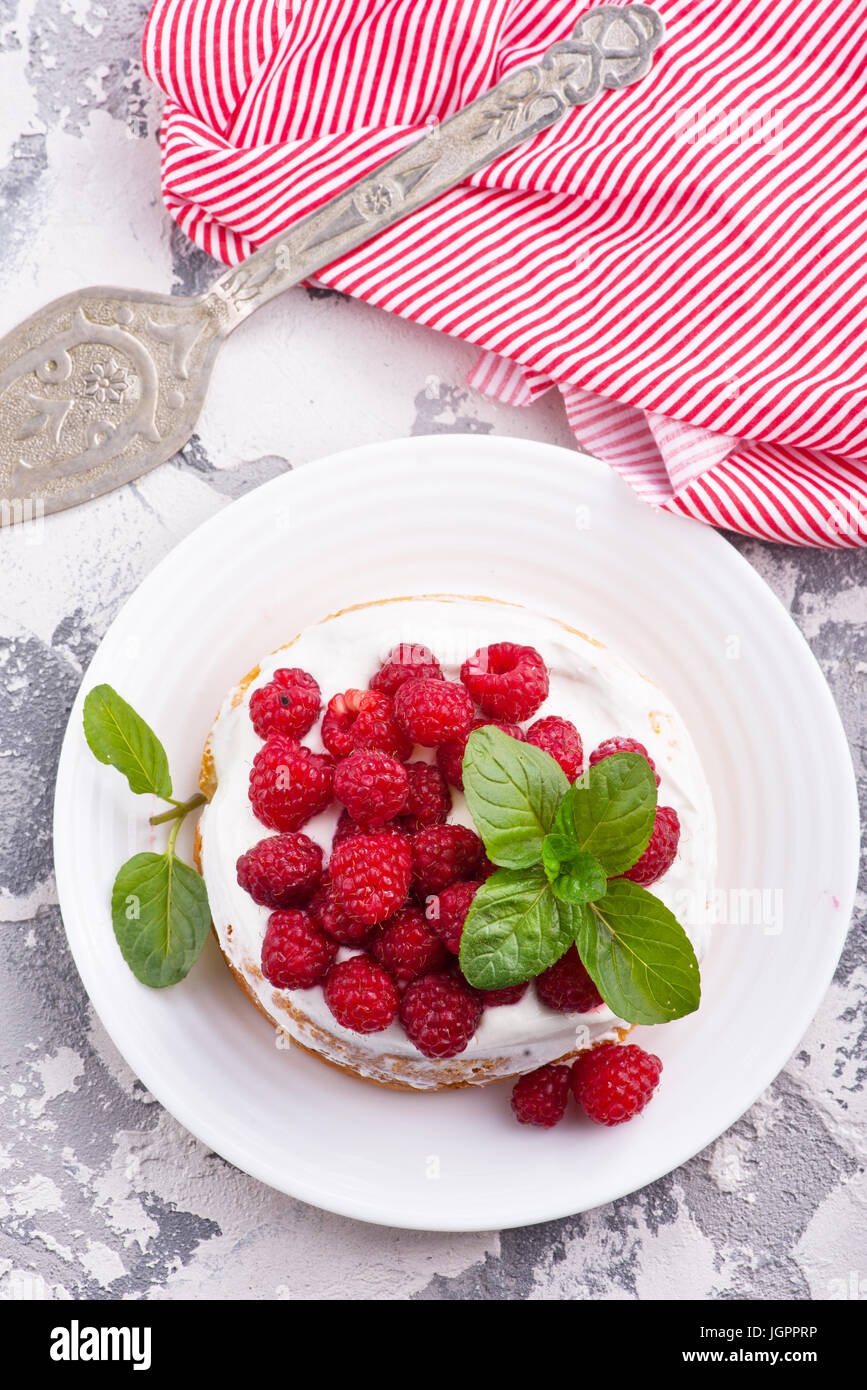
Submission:
[[[550,753],[521,744],[502,728],[477,728],[470,734],[464,795],[495,865],[527,869],[539,863],[545,837],[567,791],[565,773]]]

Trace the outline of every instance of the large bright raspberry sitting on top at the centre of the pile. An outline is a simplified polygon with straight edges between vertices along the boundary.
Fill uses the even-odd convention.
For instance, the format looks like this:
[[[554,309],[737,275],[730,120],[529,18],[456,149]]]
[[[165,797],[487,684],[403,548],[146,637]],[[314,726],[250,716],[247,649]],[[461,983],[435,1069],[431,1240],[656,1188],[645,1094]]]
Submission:
[[[342,840],[329,867],[338,903],[350,917],[371,926],[403,908],[410,891],[413,859],[406,835],[381,831]]]

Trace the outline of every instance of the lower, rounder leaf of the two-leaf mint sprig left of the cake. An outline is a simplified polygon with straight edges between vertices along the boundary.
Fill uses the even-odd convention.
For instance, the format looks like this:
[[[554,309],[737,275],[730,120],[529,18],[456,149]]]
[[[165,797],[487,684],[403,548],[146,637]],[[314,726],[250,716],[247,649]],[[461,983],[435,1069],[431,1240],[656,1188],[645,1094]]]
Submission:
[[[164,855],[133,855],[118,870],[111,922],[124,960],[154,990],[176,984],[199,956],[211,926],[204,880]]]

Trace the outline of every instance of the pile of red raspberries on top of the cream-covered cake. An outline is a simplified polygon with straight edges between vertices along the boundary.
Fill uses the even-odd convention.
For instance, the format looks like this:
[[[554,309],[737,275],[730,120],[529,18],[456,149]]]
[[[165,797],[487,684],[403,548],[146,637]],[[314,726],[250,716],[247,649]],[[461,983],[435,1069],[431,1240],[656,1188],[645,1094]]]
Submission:
[[[521,728],[547,691],[547,669],[531,646],[482,648],[464,662],[460,681],[449,681],[428,648],[403,644],[368,689],[328,701],[322,752],[302,742],[322,706],[313,676],[281,669],[253,692],[250,719],[264,742],[253,759],[250,802],[274,834],[240,856],[238,881],[271,909],[261,952],[271,984],[321,984],[336,1022],[356,1033],[399,1019],[431,1058],[461,1052],[485,1008],[522,998],[527,984],[479,991],[460,970],[463,926],[493,865],[479,837],[447,817],[450,787],[463,785],[467,739],[485,724],[549,752],[570,781],[579,776],[584,749],[570,720],[547,716]],[[414,758],[417,746],[431,749],[431,760]],[[624,748],[647,756],[641,744],[613,738],[591,763]],[[343,809],[325,865],[302,827],[333,801]],[[646,884],[664,873],[678,834],[675,812],[661,808],[629,877]],[[535,988],[561,1012],[602,1004],[574,948]]]

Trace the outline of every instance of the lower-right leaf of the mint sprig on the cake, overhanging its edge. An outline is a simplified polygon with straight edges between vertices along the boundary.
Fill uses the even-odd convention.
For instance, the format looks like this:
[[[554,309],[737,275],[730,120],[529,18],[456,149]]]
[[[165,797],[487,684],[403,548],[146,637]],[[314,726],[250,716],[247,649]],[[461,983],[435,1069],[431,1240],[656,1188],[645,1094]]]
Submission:
[[[578,955],[603,999],[628,1023],[668,1023],[693,1013],[702,986],[692,942],[659,898],[614,878],[575,923]]]

